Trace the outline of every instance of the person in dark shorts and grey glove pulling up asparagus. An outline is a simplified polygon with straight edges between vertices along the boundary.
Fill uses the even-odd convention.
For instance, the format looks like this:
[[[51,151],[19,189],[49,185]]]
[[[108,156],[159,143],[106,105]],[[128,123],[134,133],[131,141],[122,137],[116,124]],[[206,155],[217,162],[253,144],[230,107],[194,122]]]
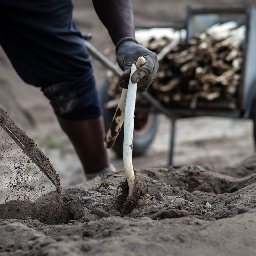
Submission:
[[[130,67],[139,56],[146,63],[132,76],[138,92],[151,84],[156,54],[134,39],[131,0],[93,0],[94,9],[116,45],[128,87]],[[88,179],[111,171],[103,147],[102,109],[91,56],[72,20],[71,0],[0,0],[0,44],[20,77],[40,87],[60,126],[72,141]]]

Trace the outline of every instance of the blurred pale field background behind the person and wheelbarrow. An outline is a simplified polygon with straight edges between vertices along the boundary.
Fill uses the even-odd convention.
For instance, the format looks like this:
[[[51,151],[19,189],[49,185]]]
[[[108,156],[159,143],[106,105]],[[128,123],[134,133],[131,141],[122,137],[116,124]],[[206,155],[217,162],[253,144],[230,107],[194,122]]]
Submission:
[[[181,0],[133,0],[135,24],[159,26],[163,23],[185,23],[188,4],[207,6],[209,1]],[[252,4],[255,1],[216,0],[215,5]],[[212,6],[212,4],[211,4]],[[113,49],[106,28],[97,17],[91,1],[74,1],[74,19],[82,32],[92,33],[91,43],[100,51]],[[114,54],[109,58],[115,60]],[[105,68],[93,60],[95,77],[100,85]],[[0,105],[13,120],[48,156],[60,173],[62,186],[81,183],[85,180],[81,164],[69,142],[61,131],[48,100],[38,88],[25,84],[17,76],[12,65],[0,49]],[[210,164],[230,166],[254,154],[251,120],[200,117],[177,121],[174,164]],[[135,168],[166,166],[169,154],[171,123],[160,115],[156,137],[146,154],[134,158]],[[122,159],[114,152],[109,155],[116,169],[123,169]]]

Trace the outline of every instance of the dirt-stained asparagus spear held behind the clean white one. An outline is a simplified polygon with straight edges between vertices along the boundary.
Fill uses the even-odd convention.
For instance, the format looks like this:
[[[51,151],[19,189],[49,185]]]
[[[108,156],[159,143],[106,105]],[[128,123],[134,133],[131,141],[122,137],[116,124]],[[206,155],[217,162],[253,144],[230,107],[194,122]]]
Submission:
[[[136,61],[135,65],[137,68],[140,68],[142,65],[144,65],[146,62],[144,57],[139,57]],[[108,132],[104,139],[104,147],[105,148],[112,148],[115,144],[116,138],[121,131],[121,127],[124,123],[124,110],[125,110],[125,100],[127,96],[127,89],[123,89],[120,100],[118,102],[115,115],[113,117],[113,120],[110,124],[110,128],[108,129]]]

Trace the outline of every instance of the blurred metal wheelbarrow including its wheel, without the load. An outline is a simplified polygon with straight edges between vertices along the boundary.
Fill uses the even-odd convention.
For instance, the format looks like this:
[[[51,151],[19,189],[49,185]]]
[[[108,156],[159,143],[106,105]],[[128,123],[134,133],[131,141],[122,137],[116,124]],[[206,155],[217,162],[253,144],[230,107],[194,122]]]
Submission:
[[[198,117],[198,116],[218,116],[218,117],[230,117],[230,118],[247,118],[252,119],[254,122],[254,140],[256,142],[256,10],[252,6],[244,7],[200,7],[194,8],[188,6],[187,8],[187,21],[183,28],[187,30],[187,36],[185,41],[188,42],[196,33],[201,33],[205,29],[211,27],[216,23],[224,23],[228,21],[236,21],[240,25],[246,26],[246,35],[244,44],[242,46],[243,51],[243,63],[241,70],[241,82],[238,86],[238,93],[235,99],[235,103],[230,106],[227,101],[219,102],[218,104],[212,104],[211,102],[204,103],[201,107],[200,104],[191,111],[190,108],[166,108],[158,100],[156,100],[148,92],[141,94],[143,98],[148,100],[151,107],[147,109],[136,108],[135,120],[134,120],[134,141],[133,141],[133,154],[135,156],[142,155],[152,142],[156,133],[158,123],[158,113],[164,113],[172,122],[171,136],[170,136],[170,150],[168,165],[172,165],[172,156],[174,148],[175,137],[175,121],[177,119],[186,117]],[[167,25],[168,26],[168,25]],[[164,26],[164,27],[167,27]],[[141,28],[142,26],[140,26]],[[158,26],[159,27],[159,26]],[[175,28],[175,25],[172,25]],[[177,28],[182,28],[180,24]],[[84,36],[88,39],[88,35]],[[110,61],[105,55],[94,48],[87,40],[85,44],[89,52],[96,57],[101,63],[111,69],[116,75],[121,76],[122,71],[120,68]],[[111,100],[108,96],[109,84],[103,79],[100,87],[100,96],[102,103],[106,103]],[[104,111],[105,127],[108,130],[115,108],[107,109]],[[122,155],[123,142],[122,135],[116,140],[113,147],[118,155]]]

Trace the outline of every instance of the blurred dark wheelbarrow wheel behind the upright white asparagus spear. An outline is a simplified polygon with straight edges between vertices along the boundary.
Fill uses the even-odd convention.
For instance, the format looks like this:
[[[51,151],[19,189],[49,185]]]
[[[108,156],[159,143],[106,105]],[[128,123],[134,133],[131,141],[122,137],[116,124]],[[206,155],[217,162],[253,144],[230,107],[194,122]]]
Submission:
[[[108,95],[108,87],[110,84],[103,79],[100,85],[100,100],[103,106],[103,116],[105,130],[108,131],[112,122],[116,108],[106,109],[104,105],[112,98]],[[134,132],[133,132],[133,156],[141,156],[148,149],[154,136],[158,125],[158,116],[154,113],[135,113],[134,118]],[[118,157],[123,156],[123,138],[124,138],[124,125],[121,132],[116,138],[113,150]]]

